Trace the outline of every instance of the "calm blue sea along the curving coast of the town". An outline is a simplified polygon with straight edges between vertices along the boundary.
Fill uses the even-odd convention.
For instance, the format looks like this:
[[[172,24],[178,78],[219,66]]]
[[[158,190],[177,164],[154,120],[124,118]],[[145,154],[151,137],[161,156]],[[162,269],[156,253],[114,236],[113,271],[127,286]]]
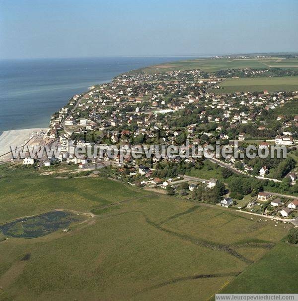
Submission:
[[[0,134],[47,127],[75,94],[123,72],[190,57],[0,60]]]

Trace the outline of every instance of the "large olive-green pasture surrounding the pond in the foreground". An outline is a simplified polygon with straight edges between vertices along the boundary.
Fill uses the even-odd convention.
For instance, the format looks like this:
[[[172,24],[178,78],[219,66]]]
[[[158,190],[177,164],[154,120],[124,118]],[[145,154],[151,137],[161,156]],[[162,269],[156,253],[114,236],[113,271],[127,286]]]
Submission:
[[[53,207],[96,213],[67,233],[1,241],[0,300],[207,300],[290,227],[102,178],[0,171],[1,222]]]

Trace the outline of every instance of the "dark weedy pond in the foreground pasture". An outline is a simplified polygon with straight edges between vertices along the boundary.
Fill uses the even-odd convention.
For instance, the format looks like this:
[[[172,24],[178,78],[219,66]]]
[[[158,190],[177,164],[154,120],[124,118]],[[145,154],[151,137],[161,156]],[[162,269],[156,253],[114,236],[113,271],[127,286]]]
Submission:
[[[69,212],[51,211],[2,224],[0,232],[11,237],[35,238],[67,228],[74,221],[78,221],[78,217]]]

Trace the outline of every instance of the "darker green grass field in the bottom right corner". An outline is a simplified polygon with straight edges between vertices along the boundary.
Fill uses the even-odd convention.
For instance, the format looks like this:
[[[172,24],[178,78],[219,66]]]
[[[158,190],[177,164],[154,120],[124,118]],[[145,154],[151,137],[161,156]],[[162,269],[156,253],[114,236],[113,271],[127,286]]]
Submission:
[[[227,285],[223,294],[297,294],[298,246],[280,242]]]

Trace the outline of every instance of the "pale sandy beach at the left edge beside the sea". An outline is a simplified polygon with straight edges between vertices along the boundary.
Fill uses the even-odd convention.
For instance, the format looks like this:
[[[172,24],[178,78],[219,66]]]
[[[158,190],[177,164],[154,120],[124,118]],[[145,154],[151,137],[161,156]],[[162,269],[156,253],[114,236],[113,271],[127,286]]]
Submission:
[[[24,145],[34,136],[43,136],[48,128],[27,128],[4,131],[0,136],[0,161],[8,160],[10,155],[10,146]]]

